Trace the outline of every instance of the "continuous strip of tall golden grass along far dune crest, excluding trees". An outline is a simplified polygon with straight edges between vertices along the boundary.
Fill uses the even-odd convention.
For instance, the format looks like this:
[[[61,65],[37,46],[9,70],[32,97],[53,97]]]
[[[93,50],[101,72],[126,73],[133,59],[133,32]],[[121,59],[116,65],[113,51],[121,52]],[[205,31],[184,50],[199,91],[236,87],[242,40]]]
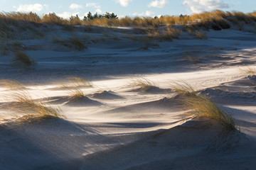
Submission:
[[[78,17],[69,19],[60,18],[55,13],[45,14],[43,17],[36,13],[0,13],[0,34],[4,36],[11,33],[10,25],[18,26],[17,21],[28,21],[32,23],[50,23],[60,26],[67,25],[87,25],[87,26],[134,26],[144,28],[158,28],[159,26],[173,26],[175,24],[183,26],[193,26],[194,28],[213,28],[215,30],[230,28],[232,25],[253,24],[256,22],[256,14],[241,12],[212,11],[193,14],[191,16],[161,16],[155,18],[95,18],[93,20],[81,20]]]

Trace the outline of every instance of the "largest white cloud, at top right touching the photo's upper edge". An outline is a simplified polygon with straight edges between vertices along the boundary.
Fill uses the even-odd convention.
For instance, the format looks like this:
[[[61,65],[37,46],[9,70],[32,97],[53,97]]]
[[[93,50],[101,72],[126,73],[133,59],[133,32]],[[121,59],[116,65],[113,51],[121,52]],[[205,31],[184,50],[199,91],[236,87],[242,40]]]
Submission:
[[[215,9],[229,8],[228,4],[222,0],[185,0],[184,6],[189,6],[193,13],[201,13],[203,11],[212,11]]]

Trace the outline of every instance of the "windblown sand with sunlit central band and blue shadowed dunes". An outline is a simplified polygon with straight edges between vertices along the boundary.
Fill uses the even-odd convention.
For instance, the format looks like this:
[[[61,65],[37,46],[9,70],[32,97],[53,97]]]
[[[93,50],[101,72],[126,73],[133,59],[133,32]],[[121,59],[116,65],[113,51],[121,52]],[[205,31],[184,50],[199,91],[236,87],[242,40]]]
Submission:
[[[183,33],[164,42],[134,41],[125,31],[75,34],[87,50],[56,45],[49,35],[21,41],[36,60],[30,68],[0,57],[0,79],[23,82],[33,98],[66,116],[2,124],[0,169],[256,168],[256,77],[241,71],[255,68],[255,33],[210,30],[208,40]],[[91,80],[92,87],[82,86],[87,97],[69,97],[72,76]],[[132,84],[141,77],[155,86]],[[239,131],[188,118],[172,90],[177,81],[233,115]],[[12,90],[0,89],[4,106]],[[9,116],[3,107],[0,113]]]

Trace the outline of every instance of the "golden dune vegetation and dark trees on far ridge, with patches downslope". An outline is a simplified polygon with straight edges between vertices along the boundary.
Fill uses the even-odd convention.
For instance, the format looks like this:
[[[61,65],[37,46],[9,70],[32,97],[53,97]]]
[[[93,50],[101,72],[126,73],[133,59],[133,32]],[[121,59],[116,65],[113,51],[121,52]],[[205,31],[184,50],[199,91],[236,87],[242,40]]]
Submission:
[[[160,40],[172,40],[178,38],[181,30],[178,28],[167,28],[166,31],[159,30],[162,26],[182,25],[186,28],[188,33],[195,34],[200,39],[207,39],[204,33],[196,30],[221,30],[231,28],[232,26],[242,29],[246,24],[255,28],[256,13],[242,13],[242,12],[224,12],[212,11],[193,14],[191,16],[161,16],[161,17],[124,17],[118,18],[114,13],[105,13],[99,15],[95,13],[88,13],[84,18],[78,16],[71,16],[69,19],[60,18],[55,13],[48,13],[44,16],[38,16],[36,13],[0,13],[0,35],[1,39],[16,38],[15,29],[19,31],[29,30],[33,33],[33,37],[44,37],[43,30],[40,28],[41,24],[48,23],[62,26],[64,30],[74,30],[74,26],[86,26],[87,30],[92,30],[91,26],[115,27],[115,26],[131,26],[135,28],[146,28],[145,34],[151,38]],[[16,28],[14,28],[15,26]],[[149,29],[150,28],[150,29]],[[151,28],[154,28],[151,30]],[[86,48],[77,39],[71,40],[75,42],[75,47],[78,50]]]

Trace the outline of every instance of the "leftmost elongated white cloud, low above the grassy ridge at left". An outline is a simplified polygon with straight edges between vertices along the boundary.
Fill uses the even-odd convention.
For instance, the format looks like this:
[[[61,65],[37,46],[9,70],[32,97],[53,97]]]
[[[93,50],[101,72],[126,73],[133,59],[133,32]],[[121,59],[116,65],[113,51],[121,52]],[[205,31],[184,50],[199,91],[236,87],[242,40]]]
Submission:
[[[18,7],[14,6],[18,12],[40,12],[47,7],[48,5],[46,4],[20,4]]]

